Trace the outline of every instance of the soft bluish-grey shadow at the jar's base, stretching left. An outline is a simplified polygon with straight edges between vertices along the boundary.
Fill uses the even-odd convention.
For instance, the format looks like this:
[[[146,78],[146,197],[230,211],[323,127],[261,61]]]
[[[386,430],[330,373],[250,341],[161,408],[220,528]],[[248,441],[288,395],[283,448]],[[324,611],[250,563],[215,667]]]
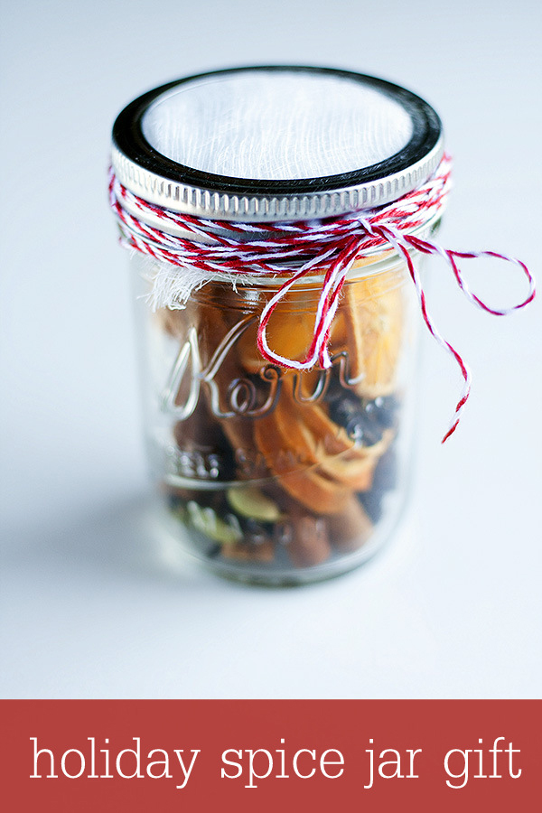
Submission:
[[[411,537],[412,530],[407,530],[411,524],[412,518],[401,523],[407,537]],[[386,570],[387,560],[389,566],[397,560],[397,555],[402,558],[401,548],[404,546],[399,545],[397,550],[395,540],[392,540],[389,546],[384,546],[376,561],[381,562]],[[10,572],[14,581],[22,575],[35,577],[39,572],[52,582],[61,579],[67,583],[94,583],[97,590],[100,585],[110,586],[111,583],[148,588],[158,586],[184,595],[186,591],[263,590],[281,593],[284,589],[282,585],[246,584],[223,575],[218,577],[187,553],[164,529],[154,500],[147,493],[98,505],[67,521],[51,523],[49,528],[32,528],[13,534],[2,552],[2,560],[7,579]],[[350,578],[359,579],[362,572],[369,573],[373,566],[373,560],[369,559],[356,568]],[[334,581],[302,586],[309,591],[325,589],[325,584]]]

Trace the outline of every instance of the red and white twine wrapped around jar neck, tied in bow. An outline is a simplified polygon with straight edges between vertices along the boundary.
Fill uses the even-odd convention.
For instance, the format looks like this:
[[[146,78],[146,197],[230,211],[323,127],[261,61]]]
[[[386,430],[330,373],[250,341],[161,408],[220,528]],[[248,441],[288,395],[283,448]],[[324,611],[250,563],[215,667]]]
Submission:
[[[323,369],[331,366],[328,341],[341,288],[350,267],[360,256],[395,248],[397,254],[405,258],[427,328],[441,347],[453,356],[463,376],[463,390],[450,428],[444,435],[444,443],[459,424],[471,391],[471,372],[457,350],[438,332],[429,316],[424,289],[410,251],[414,249],[421,254],[442,257],[452,269],[463,294],[487,313],[504,316],[525,307],[535,297],[534,279],[521,260],[496,251],[453,251],[412,233],[434,221],[443,210],[451,186],[451,169],[451,158],[444,155],[435,173],[422,186],[387,206],[365,211],[363,216],[359,213],[337,219],[295,223],[230,223],[166,210],[126,190],[113,172],[110,173],[109,196],[111,208],[119,222],[121,243],[126,248],[136,249],[169,266],[198,269],[202,279],[224,274],[234,281],[242,276],[285,277],[285,282],[277,288],[276,294],[261,313],[257,347],[266,360],[289,369],[311,369],[317,363]],[[141,219],[132,212],[141,213]],[[145,219],[149,218],[158,220],[164,229],[148,225]],[[176,237],[171,233],[171,230],[178,229],[189,232],[193,238]],[[261,238],[262,232],[265,232],[265,239]],[[252,235],[257,235],[257,238],[251,239]],[[198,238],[206,242],[200,242]],[[475,257],[496,257],[519,266],[528,280],[527,297],[519,304],[502,310],[485,304],[469,289],[458,266],[459,260]],[[286,359],[269,347],[267,324],[290,288],[304,276],[314,274],[322,275],[323,279],[313,341],[303,360]]]

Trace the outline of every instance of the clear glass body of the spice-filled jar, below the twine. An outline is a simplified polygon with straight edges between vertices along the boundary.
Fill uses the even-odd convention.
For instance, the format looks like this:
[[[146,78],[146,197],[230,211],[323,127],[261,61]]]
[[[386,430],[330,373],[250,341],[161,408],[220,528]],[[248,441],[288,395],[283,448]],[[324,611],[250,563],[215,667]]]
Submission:
[[[360,565],[397,524],[409,483],[416,295],[397,256],[353,268],[329,369],[282,369],[257,350],[276,288],[211,282],[182,309],[145,304],[146,444],[167,528],[223,575],[297,584]],[[362,273],[361,273],[362,272]],[[295,286],[269,324],[289,357],[309,343],[321,281]]]

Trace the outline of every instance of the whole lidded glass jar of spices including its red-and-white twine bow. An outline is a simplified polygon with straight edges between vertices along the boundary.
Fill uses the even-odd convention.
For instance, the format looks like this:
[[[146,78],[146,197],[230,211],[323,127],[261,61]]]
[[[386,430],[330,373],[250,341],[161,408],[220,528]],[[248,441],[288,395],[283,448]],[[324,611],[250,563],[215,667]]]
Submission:
[[[132,251],[147,443],[164,516],[224,575],[295,584],[360,565],[408,480],[415,345],[450,187],[435,111],[343,70],[181,79],[113,131],[111,206]],[[419,312],[423,316],[420,319]],[[513,310],[511,308],[510,310]]]

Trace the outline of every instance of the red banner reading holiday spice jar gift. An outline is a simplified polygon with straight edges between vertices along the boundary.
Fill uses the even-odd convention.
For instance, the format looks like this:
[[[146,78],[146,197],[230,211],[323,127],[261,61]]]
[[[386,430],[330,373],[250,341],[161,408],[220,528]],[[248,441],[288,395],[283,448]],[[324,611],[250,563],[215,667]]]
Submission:
[[[537,700],[2,701],[0,798],[10,813],[530,810],[541,724]]]

